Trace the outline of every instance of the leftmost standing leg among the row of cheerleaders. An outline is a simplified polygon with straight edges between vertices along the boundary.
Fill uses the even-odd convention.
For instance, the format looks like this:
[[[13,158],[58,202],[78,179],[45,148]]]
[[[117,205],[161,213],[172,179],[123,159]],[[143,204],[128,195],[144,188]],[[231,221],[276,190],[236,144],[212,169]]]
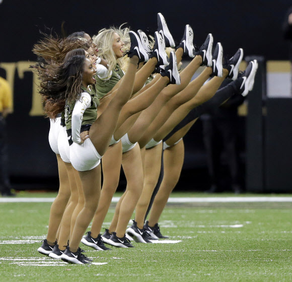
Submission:
[[[58,195],[54,199],[50,209],[49,228],[47,234],[47,242],[49,245],[54,245],[65,207],[70,198],[70,184],[67,170],[60,155],[56,156],[58,161],[60,187]]]

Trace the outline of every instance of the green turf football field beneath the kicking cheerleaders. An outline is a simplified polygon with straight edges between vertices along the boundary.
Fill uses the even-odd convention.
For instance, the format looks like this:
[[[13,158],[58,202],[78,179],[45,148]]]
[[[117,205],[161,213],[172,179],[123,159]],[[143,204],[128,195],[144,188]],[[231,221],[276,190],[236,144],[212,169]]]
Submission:
[[[0,281],[292,281],[292,201],[272,200],[290,195],[237,196],[239,202],[206,200],[214,196],[174,193],[172,197],[201,200],[173,200],[167,205],[160,227],[169,239],[134,242],[135,248],[112,251],[82,245],[94,260],[91,265],[67,264],[37,252],[46,236],[50,202],[0,201]],[[229,196],[234,195],[217,197]],[[241,201],[253,196],[272,198]],[[113,212],[114,204],[105,228]]]

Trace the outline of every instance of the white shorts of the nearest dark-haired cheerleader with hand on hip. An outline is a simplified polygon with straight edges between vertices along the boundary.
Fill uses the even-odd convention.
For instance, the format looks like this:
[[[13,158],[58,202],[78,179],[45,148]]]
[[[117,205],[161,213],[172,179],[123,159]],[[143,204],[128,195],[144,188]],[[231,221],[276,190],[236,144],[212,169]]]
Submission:
[[[81,145],[73,143],[70,147],[70,161],[78,171],[88,171],[100,164],[101,156],[96,151],[90,138]]]

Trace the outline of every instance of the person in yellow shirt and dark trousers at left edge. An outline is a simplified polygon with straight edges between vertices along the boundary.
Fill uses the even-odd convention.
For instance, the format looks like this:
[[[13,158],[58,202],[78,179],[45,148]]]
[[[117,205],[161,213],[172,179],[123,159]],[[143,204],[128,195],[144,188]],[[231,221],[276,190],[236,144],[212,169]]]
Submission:
[[[15,196],[8,177],[6,116],[12,112],[12,91],[8,82],[0,77],[0,189],[2,196]]]

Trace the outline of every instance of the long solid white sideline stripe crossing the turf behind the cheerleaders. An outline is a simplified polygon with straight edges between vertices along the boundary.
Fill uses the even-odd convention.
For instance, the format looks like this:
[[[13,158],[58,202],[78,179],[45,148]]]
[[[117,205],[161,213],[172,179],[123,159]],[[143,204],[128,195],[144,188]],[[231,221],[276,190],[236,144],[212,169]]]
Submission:
[[[120,197],[113,197],[112,202],[118,202]],[[55,198],[0,198],[0,203],[8,202],[53,202]],[[169,203],[194,202],[292,202],[292,197],[171,197]]]

